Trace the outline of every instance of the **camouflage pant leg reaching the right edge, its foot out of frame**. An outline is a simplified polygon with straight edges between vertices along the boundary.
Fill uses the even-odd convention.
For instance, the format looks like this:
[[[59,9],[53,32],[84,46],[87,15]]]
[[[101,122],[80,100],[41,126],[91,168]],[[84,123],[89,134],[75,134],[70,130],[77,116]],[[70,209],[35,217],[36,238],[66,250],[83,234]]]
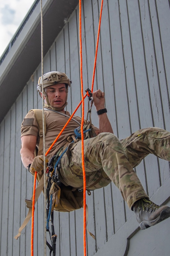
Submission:
[[[140,129],[121,143],[132,167],[139,165],[149,154],[170,161],[170,132],[166,130],[157,127]]]

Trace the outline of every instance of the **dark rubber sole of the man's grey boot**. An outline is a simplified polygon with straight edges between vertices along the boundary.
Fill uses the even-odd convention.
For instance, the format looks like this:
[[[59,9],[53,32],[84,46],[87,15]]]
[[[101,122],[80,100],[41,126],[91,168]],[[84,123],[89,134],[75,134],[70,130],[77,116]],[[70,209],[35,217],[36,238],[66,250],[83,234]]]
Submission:
[[[154,219],[154,220],[150,220],[150,221],[147,221],[147,220],[143,220],[139,226],[140,226],[140,229],[148,229],[149,227],[151,226],[154,226],[156,225],[157,223],[163,221],[164,219],[167,219],[170,217],[170,208],[166,208],[166,209],[163,209],[162,212],[160,213],[160,215],[158,216],[158,218]]]

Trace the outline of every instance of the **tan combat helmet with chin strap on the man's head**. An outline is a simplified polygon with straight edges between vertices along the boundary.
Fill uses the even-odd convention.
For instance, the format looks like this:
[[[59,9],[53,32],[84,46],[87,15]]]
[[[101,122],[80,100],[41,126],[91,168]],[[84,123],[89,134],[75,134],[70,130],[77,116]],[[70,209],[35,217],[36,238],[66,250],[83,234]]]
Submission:
[[[44,103],[44,106],[47,108],[51,108],[53,110],[62,110],[63,107],[67,106],[67,94],[68,94],[68,87],[71,86],[70,79],[66,76],[65,73],[58,72],[58,71],[51,71],[43,75],[43,88],[45,89],[47,86],[54,85],[54,84],[66,84],[66,102],[61,108],[54,108],[50,105],[48,101],[47,94],[44,90],[44,96],[48,104]],[[39,77],[37,91],[39,91],[39,95],[42,97],[42,76]]]

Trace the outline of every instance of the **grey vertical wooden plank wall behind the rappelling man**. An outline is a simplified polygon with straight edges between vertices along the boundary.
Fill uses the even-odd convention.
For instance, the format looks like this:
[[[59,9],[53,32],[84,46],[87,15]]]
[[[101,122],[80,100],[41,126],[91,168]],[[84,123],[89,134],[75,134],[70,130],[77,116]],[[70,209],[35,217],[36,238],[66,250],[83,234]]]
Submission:
[[[100,4],[100,0],[82,1],[84,89],[91,88]],[[105,92],[108,117],[119,139],[148,126],[170,130],[169,17],[168,0],[103,2],[94,90],[100,88]],[[67,106],[70,112],[81,100],[79,67],[77,7],[44,57],[44,73],[50,70],[62,71],[72,80]],[[27,213],[24,200],[30,199],[32,195],[33,177],[25,170],[20,158],[20,126],[27,111],[42,108],[42,101],[36,91],[40,75],[39,65],[0,125],[0,255],[30,255],[31,222],[23,230],[20,239],[16,241],[13,237]],[[81,107],[76,114],[81,116]],[[92,121],[98,126],[94,108]],[[154,196],[160,188],[164,190],[163,185],[169,182],[169,170],[168,162],[154,156],[147,157],[136,168],[149,197]],[[168,196],[166,194],[166,198],[160,199],[159,203],[163,203]],[[44,255],[43,203],[41,195],[35,207],[34,227],[34,255],[39,256]],[[137,224],[128,227],[132,223],[131,219],[135,220],[133,213],[113,184],[92,191],[91,196],[87,196],[87,204],[88,228],[96,236],[96,240],[87,236],[88,256],[103,255],[102,248],[108,241],[123,237],[128,229],[130,236],[138,227]],[[83,210],[55,212],[54,218],[56,255],[83,255]],[[119,254],[110,251],[105,255],[124,255],[126,238],[118,240],[117,244],[113,243],[114,251]],[[119,247],[123,248],[123,253]]]

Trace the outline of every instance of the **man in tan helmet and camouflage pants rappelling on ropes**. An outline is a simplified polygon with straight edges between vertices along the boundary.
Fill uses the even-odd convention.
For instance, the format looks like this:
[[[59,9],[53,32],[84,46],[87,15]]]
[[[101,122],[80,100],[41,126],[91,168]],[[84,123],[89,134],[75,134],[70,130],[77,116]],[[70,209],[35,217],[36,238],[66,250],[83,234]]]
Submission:
[[[67,105],[68,87],[71,81],[62,72],[48,72],[43,76],[44,112],[46,116],[45,151],[55,140],[57,134],[67,122],[70,114],[64,108]],[[42,77],[37,89],[42,96]],[[133,168],[149,153],[170,161],[170,133],[155,127],[136,131],[126,139],[118,140],[113,134],[105,109],[104,92],[93,92],[94,106],[99,116],[99,129],[92,127],[97,136],[84,141],[86,188],[98,189],[111,181],[121,191],[129,208],[135,212],[141,229],[146,229],[170,216],[170,207],[158,206],[151,202],[145,193]],[[74,116],[57,140],[46,163],[62,147],[68,145],[67,152],[61,158],[59,179],[64,185],[83,188],[81,163],[81,141],[68,142],[74,138],[74,130],[81,118]],[[34,174],[41,174],[44,168],[44,156],[34,156],[39,145],[39,129],[34,112],[29,112],[21,125],[21,160]],[[69,140],[70,141],[70,140]]]

